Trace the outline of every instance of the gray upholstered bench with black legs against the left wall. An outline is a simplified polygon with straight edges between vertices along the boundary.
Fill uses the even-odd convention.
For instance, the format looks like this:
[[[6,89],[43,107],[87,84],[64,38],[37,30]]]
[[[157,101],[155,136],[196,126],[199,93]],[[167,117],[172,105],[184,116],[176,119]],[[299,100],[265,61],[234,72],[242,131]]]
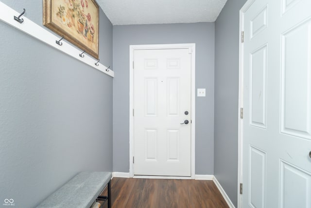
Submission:
[[[37,208],[90,208],[94,202],[106,200],[111,208],[111,177],[111,172],[80,172]],[[107,196],[100,196],[106,186]]]

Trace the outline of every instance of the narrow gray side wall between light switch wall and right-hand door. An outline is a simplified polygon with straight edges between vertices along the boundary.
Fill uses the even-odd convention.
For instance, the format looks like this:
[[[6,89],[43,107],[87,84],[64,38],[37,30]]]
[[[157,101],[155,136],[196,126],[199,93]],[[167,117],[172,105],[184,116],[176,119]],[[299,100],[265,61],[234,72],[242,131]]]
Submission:
[[[237,206],[239,11],[246,0],[228,0],[215,22],[214,175]]]

